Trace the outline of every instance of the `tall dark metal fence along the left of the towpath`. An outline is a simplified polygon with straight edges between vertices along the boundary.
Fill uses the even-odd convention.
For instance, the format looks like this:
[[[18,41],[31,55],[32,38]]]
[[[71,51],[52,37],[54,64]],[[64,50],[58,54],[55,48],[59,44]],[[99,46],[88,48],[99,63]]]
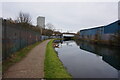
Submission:
[[[2,21],[2,59],[40,40],[40,32],[24,28],[20,24]]]

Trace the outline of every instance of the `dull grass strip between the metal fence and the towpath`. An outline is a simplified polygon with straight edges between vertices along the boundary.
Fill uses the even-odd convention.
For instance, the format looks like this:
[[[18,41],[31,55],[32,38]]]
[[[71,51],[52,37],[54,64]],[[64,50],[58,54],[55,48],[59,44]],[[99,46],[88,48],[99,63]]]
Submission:
[[[11,65],[21,61],[31,49],[40,44],[41,42],[36,42],[35,44],[29,45],[11,55],[10,58],[2,62],[2,72],[4,73]]]

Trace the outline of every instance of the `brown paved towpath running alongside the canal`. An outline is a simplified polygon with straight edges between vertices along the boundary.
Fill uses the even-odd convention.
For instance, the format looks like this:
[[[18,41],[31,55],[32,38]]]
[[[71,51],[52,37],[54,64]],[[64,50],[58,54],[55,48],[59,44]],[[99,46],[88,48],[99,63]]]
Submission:
[[[46,45],[49,40],[33,48],[20,62],[11,66],[3,75],[4,78],[43,78]]]

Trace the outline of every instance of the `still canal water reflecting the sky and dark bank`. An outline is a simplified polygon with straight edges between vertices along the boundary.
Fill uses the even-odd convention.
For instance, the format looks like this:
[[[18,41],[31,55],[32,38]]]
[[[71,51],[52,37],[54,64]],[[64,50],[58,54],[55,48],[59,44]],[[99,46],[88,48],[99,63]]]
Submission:
[[[61,41],[55,48],[73,78],[120,78],[120,49],[79,41]]]

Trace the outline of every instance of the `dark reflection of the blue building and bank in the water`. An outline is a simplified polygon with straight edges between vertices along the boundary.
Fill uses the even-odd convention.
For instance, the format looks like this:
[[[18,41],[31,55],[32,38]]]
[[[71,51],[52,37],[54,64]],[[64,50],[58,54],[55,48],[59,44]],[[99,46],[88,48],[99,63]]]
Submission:
[[[98,46],[96,44],[78,41],[76,41],[76,44],[80,46],[80,49],[102,56],[103,61],[120,70],[120,50],[118,47]]]

